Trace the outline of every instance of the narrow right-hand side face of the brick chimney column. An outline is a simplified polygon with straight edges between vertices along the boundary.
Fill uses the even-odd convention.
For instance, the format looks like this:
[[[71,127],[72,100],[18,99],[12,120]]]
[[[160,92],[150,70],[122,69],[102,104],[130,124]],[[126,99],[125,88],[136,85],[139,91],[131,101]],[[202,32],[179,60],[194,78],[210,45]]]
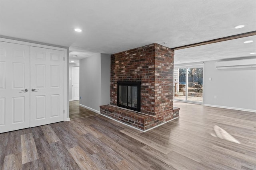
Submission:
[[[155,57],[155,115],[161,121],[172,119],[174,51],[156,44]],[[156,122],[155,122],[156,123]]]

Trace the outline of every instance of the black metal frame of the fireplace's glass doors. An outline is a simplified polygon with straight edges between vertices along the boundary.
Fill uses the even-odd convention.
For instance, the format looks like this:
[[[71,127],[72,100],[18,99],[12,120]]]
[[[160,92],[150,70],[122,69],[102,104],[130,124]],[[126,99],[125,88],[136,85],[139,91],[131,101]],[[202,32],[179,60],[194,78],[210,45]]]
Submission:
[[[121,86],[137,87],[137,108],[119,104],[119,86],[120,85]],[[127,89],[128,89],[128,87],[127,87]],[[124,91],[122,91],[122,93],[123,92]],[[124,95],[122,95],[122,97],[124,98]],[[128,98],[128,90],[127,90],[127,98]],[[122,101],[124,103],[124,99]],[[128,101],[128,99],[127,99],[127,101]],[[126,108],[126,109],[131,109],[131,110],[134,110],[134,111],[140,111],[140,82],[139,81],[138,82],[125,82],[125,81],[118,81],[117,82],[117,106],[123,107],[123,108]],[[131,104],[131,106],[132,106],[132,104]]]

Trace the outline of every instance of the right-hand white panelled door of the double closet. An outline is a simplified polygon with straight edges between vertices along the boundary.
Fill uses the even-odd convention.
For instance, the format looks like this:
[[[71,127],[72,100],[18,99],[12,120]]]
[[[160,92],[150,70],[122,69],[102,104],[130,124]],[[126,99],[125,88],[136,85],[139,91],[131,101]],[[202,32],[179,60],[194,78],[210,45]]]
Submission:
[[[64,121],[64,51],[30,47],[30,127]]]

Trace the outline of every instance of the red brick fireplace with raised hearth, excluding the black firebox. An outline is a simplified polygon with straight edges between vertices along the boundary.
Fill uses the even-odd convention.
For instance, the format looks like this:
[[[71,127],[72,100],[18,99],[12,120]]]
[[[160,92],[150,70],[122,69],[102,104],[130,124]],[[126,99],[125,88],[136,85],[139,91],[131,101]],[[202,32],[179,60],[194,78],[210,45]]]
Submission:
[[[173,107],[174,51],[157,43],[111,55],[110,105],[100,113],[143,131],[179,117]],[[140,112],[116,107],[118,82],[140,82]]]

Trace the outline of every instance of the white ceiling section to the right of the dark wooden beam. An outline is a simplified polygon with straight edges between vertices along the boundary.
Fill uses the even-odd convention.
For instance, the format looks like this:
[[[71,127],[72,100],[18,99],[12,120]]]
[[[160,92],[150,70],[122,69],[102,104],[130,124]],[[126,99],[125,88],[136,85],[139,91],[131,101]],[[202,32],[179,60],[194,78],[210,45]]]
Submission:
[[[244,43],[249,40],[253,42]],[[174,64],[256,56],[250,53],[256,53],[256,35],[176,50]]]

